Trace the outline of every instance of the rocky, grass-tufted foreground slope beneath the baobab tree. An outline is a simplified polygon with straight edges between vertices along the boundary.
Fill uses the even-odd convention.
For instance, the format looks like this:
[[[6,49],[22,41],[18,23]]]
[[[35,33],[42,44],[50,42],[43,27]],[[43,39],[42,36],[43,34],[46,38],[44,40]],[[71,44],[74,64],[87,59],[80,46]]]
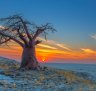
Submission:
[[[19,63],[0,58],[0,91],[96,91],[87,73],[55,68],[17,70]]]

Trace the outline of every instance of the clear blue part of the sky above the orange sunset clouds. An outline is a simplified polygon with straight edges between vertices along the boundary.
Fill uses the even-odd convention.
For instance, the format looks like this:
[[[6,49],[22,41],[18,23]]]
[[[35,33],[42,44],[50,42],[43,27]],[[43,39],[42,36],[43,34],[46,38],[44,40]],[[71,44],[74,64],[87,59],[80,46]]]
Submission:
[[[49,39],[73,49],[96,50],[96,0],[0,0],[0,17],[21,14],[36,24],[50,22],[57,29]]]

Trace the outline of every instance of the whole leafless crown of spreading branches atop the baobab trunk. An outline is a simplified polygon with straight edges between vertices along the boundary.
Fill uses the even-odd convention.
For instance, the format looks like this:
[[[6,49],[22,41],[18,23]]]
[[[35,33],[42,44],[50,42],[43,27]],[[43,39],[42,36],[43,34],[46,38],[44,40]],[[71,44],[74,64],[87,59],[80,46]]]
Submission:
[[[2,24],[2,27],[0,27],[1,43],[8,42],[10,38],[10,40],[17,42],[22,47],[32,47],[34,43],[37,45],[41,43],[41,41],[36,40],[39,35],[42,34],[47,40],[47,32],[51,31],[53,33],[56,31],[50,23],[36,26],[19,15],[2,18],[0,21]]]

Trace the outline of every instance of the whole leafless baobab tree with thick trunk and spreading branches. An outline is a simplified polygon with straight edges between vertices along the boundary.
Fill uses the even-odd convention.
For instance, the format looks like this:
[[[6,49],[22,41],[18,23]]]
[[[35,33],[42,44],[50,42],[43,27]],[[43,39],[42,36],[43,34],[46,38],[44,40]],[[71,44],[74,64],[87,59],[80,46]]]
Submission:
[[[6,44],[12,40],[23,48],[20,68],[39,69],[35,46],[41,43],[41,40],[38,40],[37,37],[43,34],[46,39],[49,31],[55,31],[52,25],[46,23],[37,26],[20,15],[1,18],[0,25],[0,44]]]

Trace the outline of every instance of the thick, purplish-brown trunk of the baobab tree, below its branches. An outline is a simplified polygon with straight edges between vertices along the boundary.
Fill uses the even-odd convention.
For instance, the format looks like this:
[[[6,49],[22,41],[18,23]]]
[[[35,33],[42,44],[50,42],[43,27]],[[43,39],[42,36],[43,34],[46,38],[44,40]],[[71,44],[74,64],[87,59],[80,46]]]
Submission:
[[[26,69],[39,69],[39,63],[35,55],[35,46],[31,48],[24,48],[22,53],[21,67]]]

